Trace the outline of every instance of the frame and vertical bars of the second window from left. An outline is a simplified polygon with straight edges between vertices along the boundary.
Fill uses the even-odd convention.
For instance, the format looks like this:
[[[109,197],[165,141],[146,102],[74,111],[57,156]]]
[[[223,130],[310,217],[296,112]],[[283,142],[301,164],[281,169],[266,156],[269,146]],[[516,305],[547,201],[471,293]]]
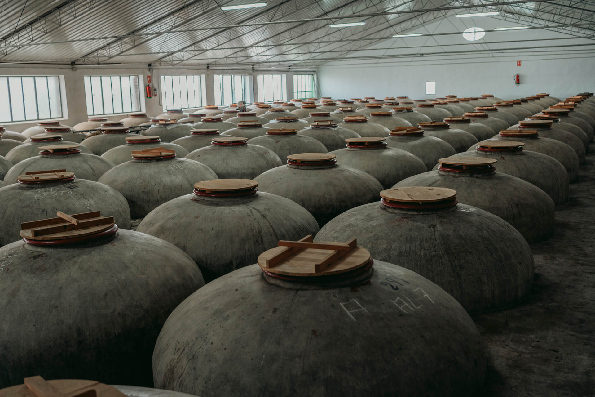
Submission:
[[[101,113],[95,112],[95,101],[93,100],[93,77],[99,77],[99,93],[101,94]],[[111,93],[111,112],[105,112],[105,95],[106,91],[104,89],[104,77],[109,78],[109,92]],[[120,104],[121,104],[121,111],[114,111],[114,77],[119,77],[119,86],[120,86]],[[122,78],[128,77],[128,83],[130,87],[130,111],[124,110],[124,92],[123,92],[123,85],[122,85]],[[136,77],[136,85],[138,88],[138,96],[139,96],[139,104],[138,109],[135,110],[133,106],[133,89],[132,89],[132,82],[131,78]],[[88,79],[88,80],[87,80]],[[87,81],[89,82],[88,86],[90,88],[89,95],[87,95]],[[87,107],[87,116],[88,117],[97,117],[100,115],[120,115],[120,114],[129,114],[130,112],[138,112],[138,111],[145,111],[145,94],[143,93],[143,83],[144,83],[144,76],[140,74],[86,74],[83,76],[83,83],[84,83],[84,97],[85,97],[85,104]],[[107,87],[106,87],[107,88]],[[91,109],[89,109],[89,104],[91,105]]]

